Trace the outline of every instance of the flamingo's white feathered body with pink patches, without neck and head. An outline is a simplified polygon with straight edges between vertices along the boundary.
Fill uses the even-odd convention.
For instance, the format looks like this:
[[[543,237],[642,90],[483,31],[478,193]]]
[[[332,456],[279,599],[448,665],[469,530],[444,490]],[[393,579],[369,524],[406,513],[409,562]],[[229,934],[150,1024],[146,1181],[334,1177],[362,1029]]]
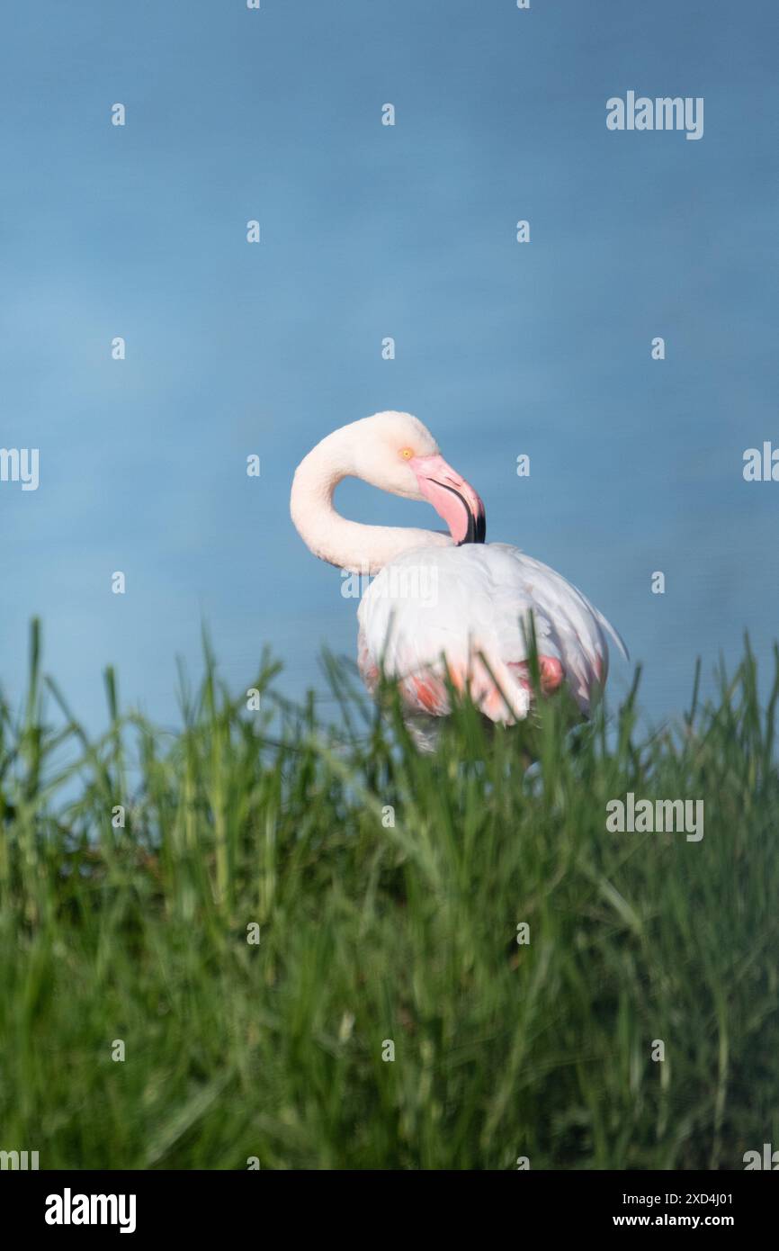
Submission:
[[[448,673],[486,717],[513,723],[530,708],[529,614],[541,687],[564,681],[589,713],[608,676],[605,634],[624,651],[621,639],[580,590],[506,543],[416,548],[385,565],[358,610],[360,673],[373,689],[383,667],[409,712],[434,717],[449,712]]]

